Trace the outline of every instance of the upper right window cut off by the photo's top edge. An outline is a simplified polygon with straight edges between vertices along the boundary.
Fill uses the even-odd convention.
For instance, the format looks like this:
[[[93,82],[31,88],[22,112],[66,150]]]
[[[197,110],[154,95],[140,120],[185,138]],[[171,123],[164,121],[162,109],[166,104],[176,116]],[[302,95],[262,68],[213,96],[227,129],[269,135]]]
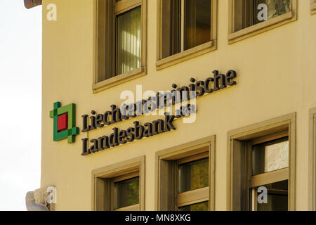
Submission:
[[[296,20],[296,6],[297,0],[230,0],[229,42]]]

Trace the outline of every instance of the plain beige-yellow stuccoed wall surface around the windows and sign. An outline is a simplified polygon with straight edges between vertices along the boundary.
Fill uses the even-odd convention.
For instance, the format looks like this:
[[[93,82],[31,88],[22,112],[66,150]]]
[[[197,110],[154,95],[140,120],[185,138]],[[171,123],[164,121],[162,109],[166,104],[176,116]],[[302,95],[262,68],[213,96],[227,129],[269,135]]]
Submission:
[[[316,15],[310,3],[298,0],[298,20],[255,37],[228,45],[228,1],[218,1],[218,50],[163,70],[156,70],[157,1],[148,1],[147,75],[93,94],[94,0],[43,1],[43,108],[41,186],[56,186],[56,210],[91,210],[91,172],[106,165],[146,156],[145,210],[154,210],[155,152],[216,135],[216,210],[226,210],[227,132],[288,113],[297,113],[296,209],[308,210],[308,110],[316,107]],[[57,6],[57,21],[46,20],[46,6]],[[211,71],[237,71],[237,86],[197,99],[193,124],[174,122],[177,130],[134,141],[112,150],[81,156],[76,143],[53,141],[53,103],[77,104],[81,115],[104,113],[120,105],[121,91],[170,90],[171,84],[190,84],[190,77],[205,79]],[[134,120],[151,122],[153,117]],[[134,120],[89,132],[89,138],[126,129]]]

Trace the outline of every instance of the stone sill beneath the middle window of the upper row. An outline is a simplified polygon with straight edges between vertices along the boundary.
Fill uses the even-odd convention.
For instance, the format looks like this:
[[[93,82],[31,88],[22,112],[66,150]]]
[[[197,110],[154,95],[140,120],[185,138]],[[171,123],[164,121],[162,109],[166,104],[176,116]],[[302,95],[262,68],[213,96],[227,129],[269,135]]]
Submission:
[[[204,53],[208,53],[208,52],[214,51],[214,50],[216,50],[216,40],[206,42],[206,43],[201,44],[199,46],[196,46],[192,49],[188,49],[186,51],[177,53],[173,56],[169,56],[167,58],[157,60],[156,68],[157,68],[157,70],[162,70],[162,69],[167,68],[171,65],[176,65],[176,64],[181,63],[181,62],[188,60],[190,58],[195,58],[195,57],[200,56]]]

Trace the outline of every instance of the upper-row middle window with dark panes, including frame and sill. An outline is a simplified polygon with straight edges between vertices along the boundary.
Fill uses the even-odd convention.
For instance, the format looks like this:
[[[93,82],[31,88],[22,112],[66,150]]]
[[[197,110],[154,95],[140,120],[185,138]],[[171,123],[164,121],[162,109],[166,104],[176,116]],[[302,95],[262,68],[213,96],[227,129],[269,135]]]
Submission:
[[[157,69],[216,49],[216,0],[159,0],[158,7]]]

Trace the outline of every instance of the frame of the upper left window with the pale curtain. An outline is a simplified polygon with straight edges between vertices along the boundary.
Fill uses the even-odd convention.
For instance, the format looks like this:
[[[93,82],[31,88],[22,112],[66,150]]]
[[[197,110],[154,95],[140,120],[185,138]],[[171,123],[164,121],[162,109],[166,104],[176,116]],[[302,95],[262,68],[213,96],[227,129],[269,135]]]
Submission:
[[[136,79],[138,77],[142,77],[144,75],[147,75],[147,0],[121,0],[119,2],[115,2],[115,0],[112,0],[112,4],[105,3],[107,5],[105,9],[105,21],[103,23],[100,22],[99,18],[99,3],[100,1],[105,0],[95,0],[94,1],[94,41],[93,41],[93,64],[96,65],[93,70],[93,84],[92,84],[92,90],[93,94],[98,93],[99,91],[103,91],[105,89],[110,89],[113,86],[117,86],[119,84],[123,84],[125,82],[129,82],[132,79]],[[141,60],[140,60],[140,68],[136,68],[135,70],[131,70],[129,72],[124,72],[120,75],[116,74],[116,67],[117,67],[117,58],[115,53],[115,27],[116,27],[116,16],[124,13],[126,11],[129,11],[133,8],[136,8],[138,6],[141,6]],[[102,31],[102,27],[105,26],[105,32],[104,35],[99,34],[100,31]],[[110,35],[112,33],[112,35]],[[99,39],[105,39],[105,46],[102,46],[104,48],[112,48],[110,51],[106,51],[105,58],[112,57],[112,60],[105,60],[105,58],[102,58],[99,53],[99,46],[101,46],[101,43],[99,43]],[[104,50],[105,51],[105,50]],[[103,65],[104,64],[104,65]],[[104,79],[100,82],[98,82],[99,77],[99,70],[104,70],[105,67],[110,66],[111,68],[111,75],[112,77]],[[103,67],[103,69],[100,69]],[[106,74],[107,72],[105,72]]]

